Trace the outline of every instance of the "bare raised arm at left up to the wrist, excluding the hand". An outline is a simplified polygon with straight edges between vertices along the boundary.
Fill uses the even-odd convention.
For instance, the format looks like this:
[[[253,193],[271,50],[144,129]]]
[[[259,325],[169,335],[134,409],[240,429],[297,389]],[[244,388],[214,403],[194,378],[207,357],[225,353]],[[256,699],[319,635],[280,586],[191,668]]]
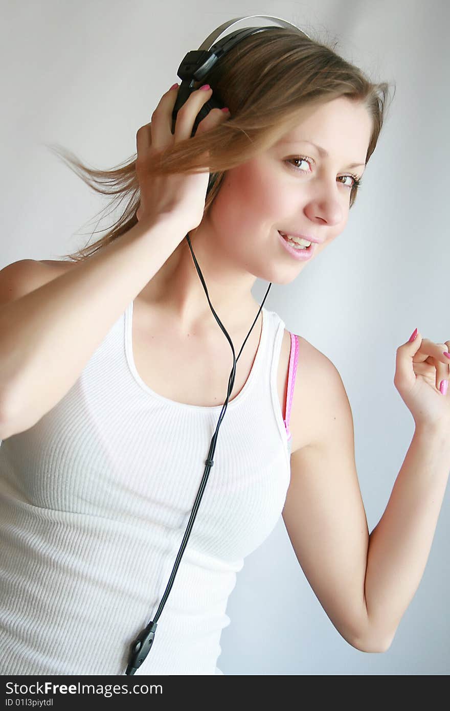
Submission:
[[[70,390],[184,229],[171,215],[139,222],[65,274],[0,305],[1,439],[32,427]]]

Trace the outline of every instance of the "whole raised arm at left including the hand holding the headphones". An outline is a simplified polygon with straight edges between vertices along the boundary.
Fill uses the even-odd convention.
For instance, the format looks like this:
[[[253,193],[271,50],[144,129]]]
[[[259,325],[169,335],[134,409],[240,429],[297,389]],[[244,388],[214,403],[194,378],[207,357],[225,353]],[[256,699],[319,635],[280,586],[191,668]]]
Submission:
[[[136,134],[139,222],[74,269],[20,296],[0,300],[0,437],[36,424],[73,386],[92,353],[130,301],[144,289],[190,230],[203,219],[208,151],[203,170],[153,175],[164,149],[191,137],[193,122],[212,90],[194,90],[172,112],[168,90]],[[195,131],[227,117],[212,109]],[[153,124],[153,125],[152,125]],[[141,215],[139,216],[139,213]]]

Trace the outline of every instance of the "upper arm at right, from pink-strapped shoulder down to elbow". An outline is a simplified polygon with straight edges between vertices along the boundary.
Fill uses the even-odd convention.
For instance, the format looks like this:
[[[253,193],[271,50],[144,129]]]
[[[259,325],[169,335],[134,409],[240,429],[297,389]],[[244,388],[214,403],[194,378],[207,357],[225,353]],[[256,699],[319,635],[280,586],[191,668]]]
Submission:
[[[368,633],[364,579],[369,531],[355,466],[350,403],[331,360],[305,339],[302,346],[293,407],[300,415],[307,412],[314,439],[291,454],[284,524],[333,626],[356,649],[380,652],[384,640]]]

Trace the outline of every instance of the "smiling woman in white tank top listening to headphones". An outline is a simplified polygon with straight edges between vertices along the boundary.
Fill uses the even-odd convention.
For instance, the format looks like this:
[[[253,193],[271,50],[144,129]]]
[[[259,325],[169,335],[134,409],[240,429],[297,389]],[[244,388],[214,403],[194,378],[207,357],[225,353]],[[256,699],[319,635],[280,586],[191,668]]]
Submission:
[[[387,85],[294,31],[247,38],[205,81],[230,114],[214,109],[195,137],[212,90],[193,92],[172,134],[172,87],[137,133],[136,161],[106,173],[73,161],[96,189],[129,199],[102,240],[65,255],[73,262],[1,272],[2,674],[123,674],[159,605],[231,365],[186,234],[240,344],[257,313],[255,279],[288,284],[343,231],[375,150]],[[289,245],[294,232],[314,250]],[[337,370],[262,309],[136,674],[222,673],[236,573],[280,514],[338,632],[364,651],[389,646],[444,495],[450,417],[435,380],[448,380],[449,346],[417,334],[397,351],[417,437],[369,539]]]

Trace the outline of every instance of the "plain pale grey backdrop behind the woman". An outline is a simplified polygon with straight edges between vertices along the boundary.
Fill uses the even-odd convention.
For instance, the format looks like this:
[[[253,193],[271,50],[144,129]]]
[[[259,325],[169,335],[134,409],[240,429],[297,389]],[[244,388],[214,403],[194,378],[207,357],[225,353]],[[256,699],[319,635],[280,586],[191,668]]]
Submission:
[[[392,382],[395,351],[416,327],[436,342],[450,337],[450,5],[198,0],[191,7],[2,2],[0,268],[58,260],[84,246],[105,205],[44,144],[62,144],[103,169],[132,156],[137,129],[177,80],[184,54],[228,19],[285,18],[313,38],[337,41],[336,51],[373,80],[394,80],[395,99],[344,232],[295,282],[274,284],[264,304],[341,373],[372,531],[414,433]],[[266,289],[255,284],[259,301]],[[360,652],[338,634],[280,518],[238,574],[219,667],[226,675],[448,674],[449,497],[447,487],[422,582],[387,652]]]

